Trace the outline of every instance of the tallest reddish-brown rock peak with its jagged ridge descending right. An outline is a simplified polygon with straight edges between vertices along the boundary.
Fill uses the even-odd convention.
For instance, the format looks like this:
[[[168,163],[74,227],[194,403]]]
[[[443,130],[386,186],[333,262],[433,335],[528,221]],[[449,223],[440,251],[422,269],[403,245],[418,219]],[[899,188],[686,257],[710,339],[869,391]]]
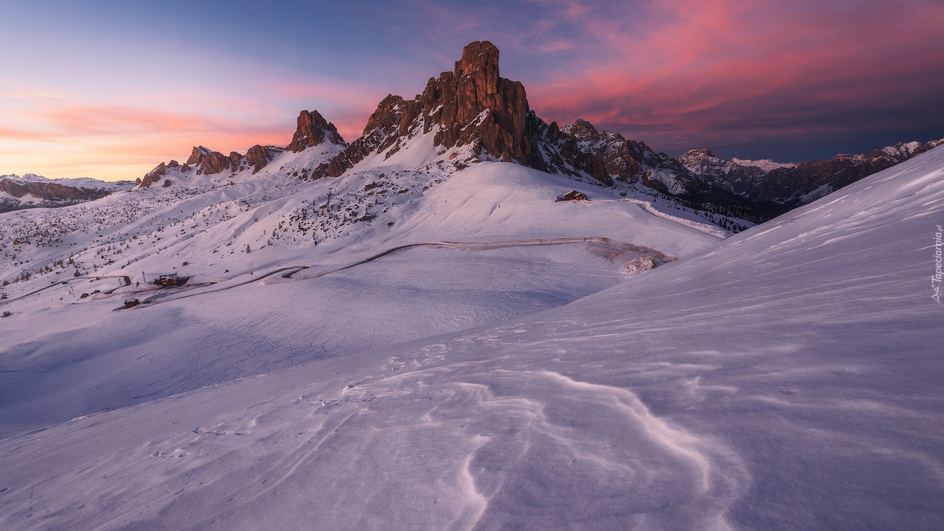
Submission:
[[[675,181],[694,182],[677,160],[654,153],[643,142],[600,133],[582,120],[564,128],[545,123],[529,108],[524,86],[499,75],[498,49],[489,41],[465,46],[453,71],[430,78],[413,100],[392,94],[381,100],[362,137],[312,176],[340,176],[372,153],[389,158],[417,135],[433,130],[433,143],[446,150],[470,146],[480,159],[514,161],[551,174],[586,175],[606,186],[615,180],[642,181],[658,190],[680,191],[683,185]],[[673,180],[672,173],[679,177]]]

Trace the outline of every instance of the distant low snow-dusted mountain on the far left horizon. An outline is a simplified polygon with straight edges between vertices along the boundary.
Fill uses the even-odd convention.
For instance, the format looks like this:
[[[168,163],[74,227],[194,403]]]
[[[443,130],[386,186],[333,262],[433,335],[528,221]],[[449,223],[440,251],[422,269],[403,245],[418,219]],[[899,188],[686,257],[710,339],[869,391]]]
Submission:
[[[42,175],[0,175],[0,212],[20,208],[62,207],[105,197],[133,186],[130,181],[91,178],[49,179]]]

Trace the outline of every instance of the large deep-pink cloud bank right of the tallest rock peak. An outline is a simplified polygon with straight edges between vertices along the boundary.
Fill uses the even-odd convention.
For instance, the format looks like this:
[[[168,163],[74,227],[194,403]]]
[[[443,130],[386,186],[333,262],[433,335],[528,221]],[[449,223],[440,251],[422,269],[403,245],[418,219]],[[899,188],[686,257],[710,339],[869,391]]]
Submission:
[[[944,7],[849,7],[678,0],[650,6],[630,33],[625,21],[586,16],[583,31],[600,41],[600,54],[529,88],[531,107],[551,119],[580,115],[666,135],[723,136],[718,129],[767,114],[767,133],[784,135],[810,125],[787,130],[778,114],[883,105],[902,93],[902,79],[918,81],[913,91],[939,91],[922,73],[944,64]]]

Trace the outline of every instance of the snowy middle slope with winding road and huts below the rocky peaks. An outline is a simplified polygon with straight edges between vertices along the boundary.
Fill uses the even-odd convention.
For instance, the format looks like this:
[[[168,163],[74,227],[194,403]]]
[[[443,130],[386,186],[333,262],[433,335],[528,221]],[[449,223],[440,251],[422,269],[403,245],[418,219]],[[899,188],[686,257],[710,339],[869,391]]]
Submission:
[[[336,179],[296,176],[321,144],[8,214],[6,431],[559,307],[728,235],[644,194],[427,162],[429,140]],[[556,201],[574,186],[590,201]],[[190,280],[150,284],[168,273]]]

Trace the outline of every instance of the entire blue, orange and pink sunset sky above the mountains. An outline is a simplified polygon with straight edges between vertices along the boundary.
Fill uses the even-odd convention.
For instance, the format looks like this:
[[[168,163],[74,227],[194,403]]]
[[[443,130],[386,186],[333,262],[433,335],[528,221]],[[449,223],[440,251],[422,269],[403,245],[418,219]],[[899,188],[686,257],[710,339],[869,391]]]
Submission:
[[[0,0],[0,174],[134,179],[197,144],[285,145],[303,108],[352,141],[478,40],[544,120],[672,156],[944,137],[940,0],[143,4]]]

